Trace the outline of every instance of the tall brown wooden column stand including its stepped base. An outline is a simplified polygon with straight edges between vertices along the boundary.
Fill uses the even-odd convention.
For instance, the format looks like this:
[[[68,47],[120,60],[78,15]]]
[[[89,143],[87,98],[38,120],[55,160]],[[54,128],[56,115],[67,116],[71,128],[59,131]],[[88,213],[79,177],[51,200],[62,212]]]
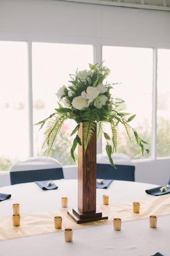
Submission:
[[[78,134],[83,142],[82,123]],[[107,216],[96,211],[96,127],[86,151],[83,143],[78,147],[78,209],[69,210],[68,215],[78,224],[107,220]]]

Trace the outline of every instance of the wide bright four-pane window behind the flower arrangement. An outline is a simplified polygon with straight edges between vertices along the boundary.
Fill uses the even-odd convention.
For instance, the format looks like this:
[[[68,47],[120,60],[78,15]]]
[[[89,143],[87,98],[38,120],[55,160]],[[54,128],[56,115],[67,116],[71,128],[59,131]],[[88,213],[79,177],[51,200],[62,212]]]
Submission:
[[[96,50],[96,58],[99,48]],[[157,157],[170,157],[170,49],[158,49],[157,79]],[[113,96],[123,98],[124,112],[136,113],[131,125],[140,136],[152,143],[152,98],[153,98],[153,49],[103,46],[102,59],[111,69],[107,81],[114,85]],[[93,46],[59,43],[32,43],[33,78],[33,124],[45,119],[57,107],[57,90],[68,85],[69,73],[76,69],[88,69],[93,63]],[[155,68],[155,67],[154,67]],[[47,148],[41,152],[43,130],[33,126],[33,138],[28,131],[28,46],[26,42],[0,41],[0,170],[9,170],[17,160],[29,156],[29,147],[34,145],[34,156],[47,155]],[[30,99],[29,99],[30,100]],[[31,101],[30,101],[31,102]],[[156,110],[156,104],[155,108]],[[59,159],[62,165],[74,164],[70,156],[70,137],[74,121],[66,122],[57,137],[50,155]],[[107,131],[107,127],[105,128]],[[107,131],[108,132],[108,131]],[[132,144],[124,127],[119,127],[118,153],[125,153],[131,159],[142,157],[132,134]],[[105,153],[105,139],[102,151]],[[149,145],[150,148],[150,145]],[[100,153],[101,150],[99,149]]]

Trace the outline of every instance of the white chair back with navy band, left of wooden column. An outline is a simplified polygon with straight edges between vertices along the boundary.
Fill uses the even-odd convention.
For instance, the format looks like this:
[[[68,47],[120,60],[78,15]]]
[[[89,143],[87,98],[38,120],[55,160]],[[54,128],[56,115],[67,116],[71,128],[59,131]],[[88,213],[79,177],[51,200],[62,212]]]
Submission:
[[[11,185],[48,179],[63,179],[62,165],[52,157],[30,157],[18,161],[10,169]]]

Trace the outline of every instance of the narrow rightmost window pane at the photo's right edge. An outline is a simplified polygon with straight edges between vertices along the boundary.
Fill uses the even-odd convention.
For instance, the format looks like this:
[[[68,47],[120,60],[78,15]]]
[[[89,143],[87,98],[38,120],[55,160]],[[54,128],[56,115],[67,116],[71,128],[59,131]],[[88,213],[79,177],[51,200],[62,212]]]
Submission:
[[[170,156],[170,49],[158,50],[157,156]]]

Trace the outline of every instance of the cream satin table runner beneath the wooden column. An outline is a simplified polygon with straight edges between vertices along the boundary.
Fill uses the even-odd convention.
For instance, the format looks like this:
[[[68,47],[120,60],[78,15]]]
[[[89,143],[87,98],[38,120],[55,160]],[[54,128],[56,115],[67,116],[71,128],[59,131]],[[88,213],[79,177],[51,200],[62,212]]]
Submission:
[[[141,220],[149,215],[163,216],[170,214],[170,194],[141,199],[140,214],[132,211],[132,201],[118,202],[109,205],[100,205],[97,208],[108,215],[108,220],[99,220],[89,223],[76,224],[68,214],[68,209],[60,209],[51,212],[24,214],[21,216],[21,225],[12,226],[12,217],[0,218],[0,241],[40,235],[52,232],[61,232],[65,228],[85,228],[110,224],[113,218],[119,217],[122,221]],[[54,216],[62,216],[62,229],[55,229]]]

